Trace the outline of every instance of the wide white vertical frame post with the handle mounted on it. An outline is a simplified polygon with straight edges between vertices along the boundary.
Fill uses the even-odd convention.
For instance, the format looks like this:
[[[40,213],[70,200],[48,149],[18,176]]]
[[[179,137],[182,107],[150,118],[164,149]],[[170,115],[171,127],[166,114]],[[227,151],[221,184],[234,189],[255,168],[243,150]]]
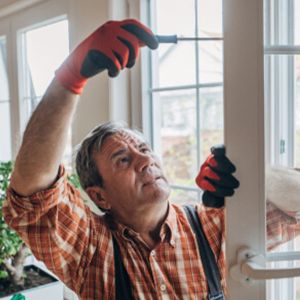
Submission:
[[[225,0],[223,15],[225,144],[241,183],[226,200],[230,268],[242,246],[265,255],[263,0]],[[227,282],[230,299],[266,299],[265,281]]]

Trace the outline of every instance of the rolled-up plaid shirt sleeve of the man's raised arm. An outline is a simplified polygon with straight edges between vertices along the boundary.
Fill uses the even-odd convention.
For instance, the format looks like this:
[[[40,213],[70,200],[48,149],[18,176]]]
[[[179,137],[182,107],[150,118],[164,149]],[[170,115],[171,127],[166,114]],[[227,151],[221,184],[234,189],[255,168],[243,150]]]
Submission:
[[[79,292],[96,250],[95,215],[68,182],[64,167],[50,188],[31,196],[20,196],[9,187],[3,216],[34,256]],[[107,237],[106,227],[98,225],[97,234]]]

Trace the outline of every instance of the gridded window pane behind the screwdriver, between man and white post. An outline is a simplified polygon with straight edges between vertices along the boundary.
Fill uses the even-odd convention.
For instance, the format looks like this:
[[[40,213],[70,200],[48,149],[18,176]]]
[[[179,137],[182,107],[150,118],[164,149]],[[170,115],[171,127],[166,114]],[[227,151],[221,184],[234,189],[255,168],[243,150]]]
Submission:
[[[149,122],[171,199],[198,202],[194,178],[210,147],[223,142],[222,1],[149,3],[154,32],[190,38],[151,52]]]

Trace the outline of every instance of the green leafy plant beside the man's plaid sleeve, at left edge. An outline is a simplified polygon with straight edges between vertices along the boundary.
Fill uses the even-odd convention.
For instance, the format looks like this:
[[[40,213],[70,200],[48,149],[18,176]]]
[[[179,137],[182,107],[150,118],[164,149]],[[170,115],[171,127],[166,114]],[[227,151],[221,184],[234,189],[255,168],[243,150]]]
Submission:
[[[28,248],[16,232],[7,226],[2,214],[12,168],[11,161],[0,162],[0,280],[9,279],[14,285],[22,286]]]

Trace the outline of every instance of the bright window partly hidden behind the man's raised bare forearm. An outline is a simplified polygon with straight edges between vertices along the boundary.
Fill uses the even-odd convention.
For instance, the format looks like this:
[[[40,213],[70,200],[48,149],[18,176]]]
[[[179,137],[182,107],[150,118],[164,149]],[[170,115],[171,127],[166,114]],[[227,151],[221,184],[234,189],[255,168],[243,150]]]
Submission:
[[[19,31],[21,130],[41,100],[51,82],[55,69],[69,53],[69,32],[66,19]],[[71,162],[71,132],[69,132],[64,163]]]

